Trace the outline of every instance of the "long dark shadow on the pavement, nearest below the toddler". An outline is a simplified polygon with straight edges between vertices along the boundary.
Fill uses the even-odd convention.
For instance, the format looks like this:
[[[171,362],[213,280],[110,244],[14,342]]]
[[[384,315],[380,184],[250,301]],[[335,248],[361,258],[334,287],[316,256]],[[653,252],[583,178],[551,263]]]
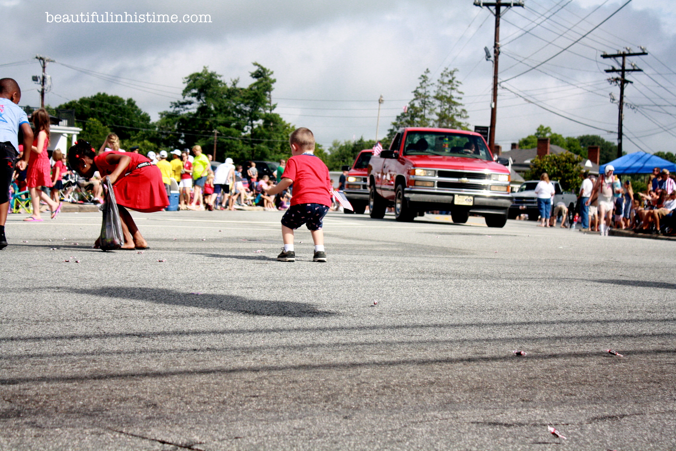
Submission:
[[[85,294],[88,296],[143,300],[158,304],[199,307],[200,309],[218,309],[257,316],[303,318],[337,315],[335,312],[318,310],[314,305],[306,302],[258,300],[243,296],[208,293],[188,294],[166,288],[120,288],[109,286],[101,288],[68,288],[68,290],[74,294]]]

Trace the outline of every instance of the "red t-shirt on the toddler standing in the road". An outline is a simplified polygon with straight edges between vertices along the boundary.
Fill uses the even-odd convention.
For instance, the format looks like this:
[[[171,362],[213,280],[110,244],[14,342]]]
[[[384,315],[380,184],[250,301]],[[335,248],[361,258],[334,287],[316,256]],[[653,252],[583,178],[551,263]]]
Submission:
[[[331,207],[329,168],[315,155],[289,158],[282,178],[293,180],[291,205],[321,204]]]

